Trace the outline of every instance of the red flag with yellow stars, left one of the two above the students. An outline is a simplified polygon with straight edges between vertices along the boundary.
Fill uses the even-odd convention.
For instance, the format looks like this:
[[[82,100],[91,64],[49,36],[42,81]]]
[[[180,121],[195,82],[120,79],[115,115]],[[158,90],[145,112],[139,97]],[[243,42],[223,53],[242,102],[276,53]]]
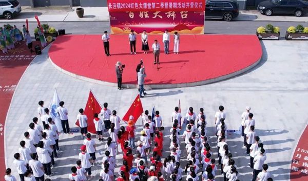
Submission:
[[[93,123],[94,113],[99,114],[101,110],[102,110],[102,106],[100,105],[97,98],[95,98],[94,94],[90,90],[86,108],[84,110],[84,114],[87,115],[88,117],[88,131],[90,133],[93,133],[93,134],[96,133],[95,126]],[[79,126],[79,123],[76,123],[76,125]]]

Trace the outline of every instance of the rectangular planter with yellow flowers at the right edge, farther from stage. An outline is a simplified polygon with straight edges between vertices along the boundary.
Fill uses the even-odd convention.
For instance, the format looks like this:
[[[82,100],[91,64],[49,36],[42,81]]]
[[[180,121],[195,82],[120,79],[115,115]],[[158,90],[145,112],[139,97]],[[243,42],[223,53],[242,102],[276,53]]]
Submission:
[[[286,40],[308,40],[308,27],[297,25],[288,27],[285,33]]]

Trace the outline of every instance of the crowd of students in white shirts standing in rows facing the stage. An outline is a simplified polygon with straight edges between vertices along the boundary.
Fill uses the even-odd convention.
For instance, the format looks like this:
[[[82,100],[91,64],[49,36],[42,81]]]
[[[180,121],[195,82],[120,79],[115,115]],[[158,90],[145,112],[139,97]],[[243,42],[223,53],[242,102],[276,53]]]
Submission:
[[[14,165],[22,181],[43,181],[45,175],[51,176],[51,168],[55,166],[55,158],[59,156],[57,152],[60,150],[60,133],[49,115],[48,108],[44,108],[44,102],[39,104],[38,113],[44,129],[38,124],[38,118],[34,117],[29,124],[30,128],[24,133],[24,140],[20,142],[21,147],[14,154]],[[67,109],[63,104],[64,102],[57,109],[60,116],[62,114],[61,120],[67,118],[63,117],[67,116]],[[142,115],[143,128],[139,136],[133,116],[129,116],[129,120],[125,122],[126,127],[121,126],[117,111],[111,111],[107,107],[108,104],[104,103],[104,108],[100,114],[94,114],[93,120],[88,120],[83,109],[79,110],[76,122],[81,126],[83,145],[80,147],[79,160],[71,167],[71,173],[68,175],[71,181],[93,178],[91,167],[98,163],[95,156],[97,142],[106,142],[100,163],[102,169],[99,181],[182,181],[184,178],[186,181],[199,181],[200,178],[200,181],[210,181],[215,180],[219,171],[224,181],[239,181],[235,159],[228,147],[227,119],[223,106],[219,106],[219,111],[215,114],[217,143],[209,142],[203,108],[196,114],[190,107],[182,117],[179,107],[175,107],[171,114],[170,130],[165,130],[159,111],[152,117],[146,110]],[[268,165],[265,164],[265,149],[254,131],[255,120],[250,109],[246,107],[243,112],[241,125],[243,145],[246,154],[250,156],[249,166],[253,169],[252,181],[272,181],[271,174],[267,172]],[[68,123],[68,120],[65,121]],[[94,123],[97,140],[88,133],[88,122]],[[69,128],[66,128],[68,125],[65,122],[62,124],[65,133],[69,133]],[[215,147],[217,155],[213,151]],[[123,160],[121,165],[116,164],[117,155]],[[118,173],[115,173],[115,168],[120,168]],[[6,170],[5,180],[16,180],[11,175],[10,168]]]

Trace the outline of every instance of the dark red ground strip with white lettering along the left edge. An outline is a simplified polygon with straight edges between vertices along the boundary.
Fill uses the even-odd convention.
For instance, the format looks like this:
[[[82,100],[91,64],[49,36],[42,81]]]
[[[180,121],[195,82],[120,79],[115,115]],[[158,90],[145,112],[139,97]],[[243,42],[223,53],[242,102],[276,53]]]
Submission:
[[[38,45],[38,42],[33,42],[33,47],[35,45]],[[17,83],[34,57],[35,53],[31,54],[29,52],[25,42],[9,50],[7,54],[2,53],[2,51],[0,52],[0,163],[2,163],[2,165],[5,163],[4,127],[7,112]],[[16,142],[13,144],[17,146],[19,143]],[[13,156],[13,153],[7,153],[7,156]],[[5,169],[5,166],[2,167],[0,178],[4,178]]]

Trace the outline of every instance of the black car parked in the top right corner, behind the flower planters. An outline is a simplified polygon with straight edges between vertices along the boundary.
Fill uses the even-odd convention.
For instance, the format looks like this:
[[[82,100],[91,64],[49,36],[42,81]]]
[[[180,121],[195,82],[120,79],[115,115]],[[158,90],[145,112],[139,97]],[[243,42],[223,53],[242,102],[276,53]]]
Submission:
[[[259,3],[258,11],[267,16],[272,14],[294,14],[299,17],[308,12],[308,3],[301,0],[268,0]]]

